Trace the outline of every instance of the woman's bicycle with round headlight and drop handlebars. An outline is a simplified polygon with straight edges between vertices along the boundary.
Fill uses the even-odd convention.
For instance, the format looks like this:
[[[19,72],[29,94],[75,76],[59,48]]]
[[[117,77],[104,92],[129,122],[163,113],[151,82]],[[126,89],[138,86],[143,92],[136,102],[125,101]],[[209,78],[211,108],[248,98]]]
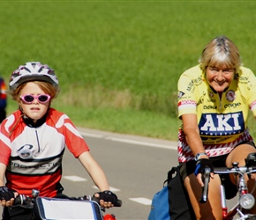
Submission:
[[[237,187],[238,187],[238,202],[237,204],[228,211],[225,188],[223,184],[221,185],[221,194],[222,194],[222,219],[223,220],[231,220],[234,216],[239,216],[237,220],[242,219],[256,219],[256,215],[247,214],[245,210],[252,209],[255,204],[255,199],[252,196],[252,192],[248,192],[248,188],[245,183],[245,174],[248,175],[249,178],[252,177],[252,173],[256,173],[256,153],[250,153],[248,157],[245,159],[245,166],[238,166],[238,163],[235,162],[232,164],[233,167],[215,167],[215,174],[230,174],[234,173],[237,176]],[[207,202],[207,191],[208,191],[208,183],[210,180],[210,168],[205,168],[205,172],[203,175],[204,187],[202,187],[202,195],[200,198],[200,202]],[[254,179],[255,180],[255,179]],[[255,180],[256,185],[256,180]],[[255,186],[253,190],[255,189]],[[253,191],[252,190],[252,191]]]

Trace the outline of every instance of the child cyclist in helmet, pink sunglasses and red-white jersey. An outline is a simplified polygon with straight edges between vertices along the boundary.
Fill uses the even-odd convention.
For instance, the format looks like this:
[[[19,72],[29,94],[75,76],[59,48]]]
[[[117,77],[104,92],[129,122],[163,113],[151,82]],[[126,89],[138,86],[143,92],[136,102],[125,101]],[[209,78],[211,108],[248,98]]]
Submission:
[[[13,71],[9,82],[12,99],[19,109],[7,117],[0,131],[0,204],[3,219],[29,219],[32,210],[14,207],[17,194],[64,197],[60,184],[64,148],[86,168],[100,191],[101,206],[110,208],[117,195],[87,143],[66,114],[50,107],[59,91],[54,70],[41,62],[26,62]],[[4,177],[6,184],[4,184]]]

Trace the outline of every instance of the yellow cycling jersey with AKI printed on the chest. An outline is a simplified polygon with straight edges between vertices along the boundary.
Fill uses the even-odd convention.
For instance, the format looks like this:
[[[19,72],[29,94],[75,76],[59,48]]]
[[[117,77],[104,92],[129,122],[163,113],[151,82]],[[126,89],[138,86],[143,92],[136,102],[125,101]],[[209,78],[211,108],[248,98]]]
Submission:
[[[205,73],[197,65],[186,70],[178,81],[178,117],[197,114],[200,137],[209,157],[230,153],[239,143],[252,141],[247,128],[249,110],[256,115],[256,77],[245,67],[234,75],[230,86],[217,92],[207,84]],[[184,132],[178,132],[178,160],[194,159],[185,141]]]

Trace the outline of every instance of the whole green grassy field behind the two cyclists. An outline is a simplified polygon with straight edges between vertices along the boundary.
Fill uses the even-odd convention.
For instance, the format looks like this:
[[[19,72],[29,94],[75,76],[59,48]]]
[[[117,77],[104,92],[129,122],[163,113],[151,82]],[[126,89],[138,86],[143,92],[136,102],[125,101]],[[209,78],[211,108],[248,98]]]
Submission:
[[[0,73],[8,81],[19,64],[48,63],[62,88],[53,105],[76,125],[176,140],[177,79],[209,40],[230,37],[256,72],[255,9],[254,1],[0,0]]]

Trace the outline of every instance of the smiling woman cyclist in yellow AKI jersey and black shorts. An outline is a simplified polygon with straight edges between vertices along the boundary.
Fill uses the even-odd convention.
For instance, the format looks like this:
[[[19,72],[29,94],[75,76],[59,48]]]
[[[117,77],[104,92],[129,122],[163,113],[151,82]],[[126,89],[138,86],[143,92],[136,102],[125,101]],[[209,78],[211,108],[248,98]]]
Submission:
[[[222,219],[221,180],[213,169],[231,167],[232,162],[245,165],[247,155],[256,152],[247,128],[249,110],[256,115],[256,77],[242,66],[236,45],[225,36],[211,40],[199,62],[184,71],[177,84],[182,120],[178,160],[196,218]],[[200,203],[205,167],[212,171],[211,180],[208,201]],[[234,197],[234,176],[225,185],[227,197]],[[248,187],[251,192],[253,184]],[[250,211],[255,213],[255,207]]]

